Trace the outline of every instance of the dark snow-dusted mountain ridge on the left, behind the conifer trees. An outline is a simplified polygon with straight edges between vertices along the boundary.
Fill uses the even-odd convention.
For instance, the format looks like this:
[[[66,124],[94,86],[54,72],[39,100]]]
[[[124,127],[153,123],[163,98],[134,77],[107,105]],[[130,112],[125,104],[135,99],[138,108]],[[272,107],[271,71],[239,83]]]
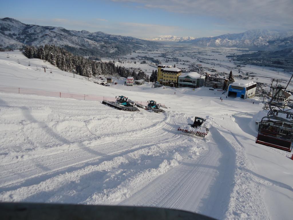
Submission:
[[[79,55],[112,56],[131,53],[153,41],[103,32],[70,31],[62,27],[24,24],[13,18],[0,19],[0,48],[21,49],[24,45],[54,44]]]

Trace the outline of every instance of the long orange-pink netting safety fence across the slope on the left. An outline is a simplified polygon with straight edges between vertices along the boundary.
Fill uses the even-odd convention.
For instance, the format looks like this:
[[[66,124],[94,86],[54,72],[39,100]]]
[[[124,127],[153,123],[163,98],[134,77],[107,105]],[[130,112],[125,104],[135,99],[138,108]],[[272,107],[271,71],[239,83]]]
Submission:
[[[77,94],[67,92],[52,92],[42,89],[29,89],[21,87],[0,87],[0,92],[14,93],[14,94],[27,94],[27,95],[40,95],[48,97],[60,97],[60,98],[71,98],[77,100],[89,100],[89,101],[115,101],[115,97],[98,96],[94,94]],[[141,104],[146,104],[146,101],[138,101]]]

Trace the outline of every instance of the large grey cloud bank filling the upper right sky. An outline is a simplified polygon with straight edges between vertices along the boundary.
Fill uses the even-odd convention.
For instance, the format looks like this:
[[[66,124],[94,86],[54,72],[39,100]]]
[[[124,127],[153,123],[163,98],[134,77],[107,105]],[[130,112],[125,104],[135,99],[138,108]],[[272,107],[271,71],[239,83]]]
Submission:
[[[112,0],[130,6],[161,9],[224,20],[243,29],[293,28],[292,0]]]

